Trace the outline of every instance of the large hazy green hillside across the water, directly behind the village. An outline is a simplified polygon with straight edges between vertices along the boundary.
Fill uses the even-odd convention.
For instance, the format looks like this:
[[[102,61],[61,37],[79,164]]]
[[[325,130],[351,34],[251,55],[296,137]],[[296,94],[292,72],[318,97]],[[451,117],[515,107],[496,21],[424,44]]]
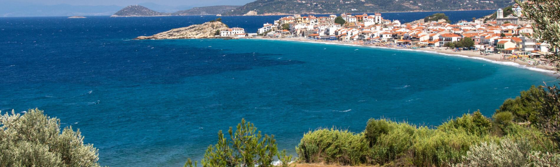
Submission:
[[[511,3],[511,0],[257,0],[223,15],[243,15],[249,11],[265,14],[475,10],[497,9]]]

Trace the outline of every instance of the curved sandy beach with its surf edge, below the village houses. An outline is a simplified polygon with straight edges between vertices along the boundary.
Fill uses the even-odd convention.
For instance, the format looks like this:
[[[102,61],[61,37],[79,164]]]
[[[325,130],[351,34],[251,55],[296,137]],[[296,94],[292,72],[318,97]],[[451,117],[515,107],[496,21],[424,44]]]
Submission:
[[[547,75],[557,76],[556,72],[552,70],[552,66],[548,65],[529,65],[528,62],[517,60],[502,60],[500,54],[491,54],[491,55],[480,55],[478,51],[460,51],[454,52],[451,50],[444,49],[430,49],[430,48],[420,48],[420,49],[407,49],[403,47],[388,47],[388,46],[375,46],[375,45],[363,45],[363,44],[353,44],[351,42],[342,42],[342,41],[317,41],[317,40],[307,40],[302,38],[253,38],[257,40],[279,40],[279,41],[297,41],[297,42],[311,42],[316,44],[333,44],[333,45],[347,45],[347,46],[362,46],[362,47],[372,47],[377,49],[394,49],[394,50],[408,50],[408,51],[419,51],[425,53],[432,53],[432,54],[440,54],[440,55],[448,55],[448,56],[458,56],[462,58],[469,58],[469,59],[477,59],[488,61],[490,63],[507,65],[507,66],[514,66],[516,68],[521,69],[528,69],[533,71],[538,71],[541,73],[545,73]]]

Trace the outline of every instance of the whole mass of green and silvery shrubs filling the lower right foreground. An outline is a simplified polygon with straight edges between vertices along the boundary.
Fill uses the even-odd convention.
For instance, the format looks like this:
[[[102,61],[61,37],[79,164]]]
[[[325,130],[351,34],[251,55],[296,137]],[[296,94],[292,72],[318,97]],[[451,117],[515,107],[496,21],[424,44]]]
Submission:
[[[511,112],[496,113],[493,118],[492,121],[476,111],[444,122],[437,128],[370,119],[362,133],[336,129],[310,131],[301,139],[296,151],[299,159],[306,163],[386,166],[469,166],[477,163],[505,163],[507,166],[519,164],[521,161],[528,164],[527,152],[545,151],[553,147],[553,142],[536,128],[512,122]],[[495,126],[499,127],[493,128]],[[501,140],[507,141],[500,145]],[[523,145],[518,145],[521,142]],[[493,148],[510,148],[512,145],[524,149],[522,156],[525,159],[497,161],[496,158],[486,162],[477,160],[483,159],[482,155],[497,154],[488,152],[496,151],[491,150]],[[477,150],[486,152],[473,152]],[[498,152],[503,155],[496,156],[503,158],[514,157],[519,151],[502,149]],[[550,159],[549,156],[545,158]]]

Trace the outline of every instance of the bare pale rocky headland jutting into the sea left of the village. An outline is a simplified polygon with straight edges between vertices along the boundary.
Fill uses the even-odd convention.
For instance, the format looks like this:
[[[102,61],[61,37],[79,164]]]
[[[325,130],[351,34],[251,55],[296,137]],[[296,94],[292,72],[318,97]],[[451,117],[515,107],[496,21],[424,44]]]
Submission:
[[[218,18],[217,20],[205,22],[202,25],[174,28],[152,36],[139,36],[136,39],[208,39],[215,38],[216,32],[219,33],[219,31],[226,30],[227,28],[229,27]]]

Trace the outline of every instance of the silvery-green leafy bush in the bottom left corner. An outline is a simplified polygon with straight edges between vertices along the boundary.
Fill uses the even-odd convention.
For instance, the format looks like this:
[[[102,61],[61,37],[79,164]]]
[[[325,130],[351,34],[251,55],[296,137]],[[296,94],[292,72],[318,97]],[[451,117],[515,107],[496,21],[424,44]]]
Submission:
[[[39,109],[0,116],[0,166],[99,166],[97,149],[83,144],[80,130]]]

